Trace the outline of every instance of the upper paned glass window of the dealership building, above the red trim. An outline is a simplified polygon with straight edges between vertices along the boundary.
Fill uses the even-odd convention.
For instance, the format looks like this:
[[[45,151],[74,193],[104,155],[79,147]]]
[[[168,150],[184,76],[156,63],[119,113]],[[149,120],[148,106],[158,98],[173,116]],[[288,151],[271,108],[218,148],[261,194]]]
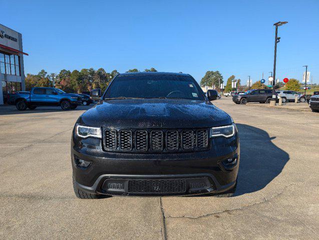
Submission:
[[[0,52],[0,73],[20,76],[20,57],[15,54]]]

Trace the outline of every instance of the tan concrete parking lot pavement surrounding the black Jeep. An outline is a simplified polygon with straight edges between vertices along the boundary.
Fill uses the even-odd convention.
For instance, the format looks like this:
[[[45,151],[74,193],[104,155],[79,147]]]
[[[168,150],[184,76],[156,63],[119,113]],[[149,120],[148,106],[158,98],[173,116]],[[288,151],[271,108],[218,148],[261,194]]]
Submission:
[[[240,134],[230,198],[78,199],[70,139],[89,107],[0,107],[0,239],[318,239],[319,113],[214,104]]]

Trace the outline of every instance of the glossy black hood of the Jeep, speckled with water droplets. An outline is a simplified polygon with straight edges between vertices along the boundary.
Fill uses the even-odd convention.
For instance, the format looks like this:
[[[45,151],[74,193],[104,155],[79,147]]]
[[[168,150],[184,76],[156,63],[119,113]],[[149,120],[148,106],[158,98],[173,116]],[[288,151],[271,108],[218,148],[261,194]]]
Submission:
[[[101,100],[78,119],[84,125],[125,128],[212,127],[231,122],[212,103],[187,99]]]

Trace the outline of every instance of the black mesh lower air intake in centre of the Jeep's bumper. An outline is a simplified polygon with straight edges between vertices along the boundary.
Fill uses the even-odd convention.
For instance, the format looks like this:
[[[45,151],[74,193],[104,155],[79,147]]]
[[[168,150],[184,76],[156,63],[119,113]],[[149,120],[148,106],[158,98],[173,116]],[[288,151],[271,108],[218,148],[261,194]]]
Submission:
[[[136,179],[129,180],[131,193],[183,193],[186,192],[185,179]]]

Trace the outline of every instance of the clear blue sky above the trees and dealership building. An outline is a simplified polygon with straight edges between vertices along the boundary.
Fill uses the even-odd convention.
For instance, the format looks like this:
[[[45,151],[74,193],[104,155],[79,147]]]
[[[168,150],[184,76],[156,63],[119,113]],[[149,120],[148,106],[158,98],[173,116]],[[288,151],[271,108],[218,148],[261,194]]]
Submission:
[[[307,64],[319,83],[318,0],[1,0],[1,8],[1,23],[23,34],[26,73],[155,67],[198,81],[207,70],[256,81],[273,69],[273,23],[288,21],[276,76],[301,79]]]

